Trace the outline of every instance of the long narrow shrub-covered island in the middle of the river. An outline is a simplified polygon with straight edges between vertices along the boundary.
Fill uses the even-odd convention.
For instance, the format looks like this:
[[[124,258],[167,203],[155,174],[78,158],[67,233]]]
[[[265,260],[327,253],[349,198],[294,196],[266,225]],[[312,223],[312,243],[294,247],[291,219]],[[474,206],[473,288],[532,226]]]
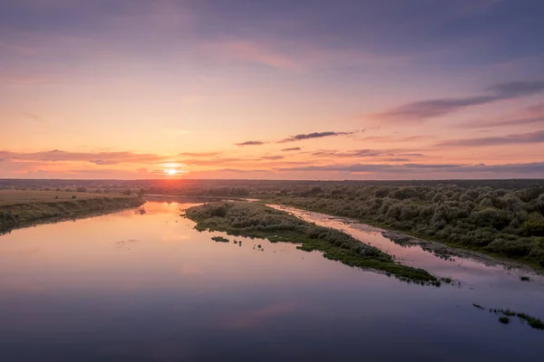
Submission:
[[[403,281],[440,285],[432,274],[395,262],[379,249],[361,243],[335,229],[302,221],[291,214],[266,205],[249,202],[219,202],[190,207],[189,219],[200,231],[219,231],[232,235],[266,238],[271,242],[300,243],[306,252],[323,252],[325,258],[346,265],[382,271]]]

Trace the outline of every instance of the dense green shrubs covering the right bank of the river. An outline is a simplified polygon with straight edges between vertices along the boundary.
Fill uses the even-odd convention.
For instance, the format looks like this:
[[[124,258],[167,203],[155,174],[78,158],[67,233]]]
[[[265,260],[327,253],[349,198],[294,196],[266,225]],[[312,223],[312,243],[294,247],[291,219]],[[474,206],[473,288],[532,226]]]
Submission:
[[[544,186],[330,186],[281,190],[274,202],[379,224],[544,267]]]

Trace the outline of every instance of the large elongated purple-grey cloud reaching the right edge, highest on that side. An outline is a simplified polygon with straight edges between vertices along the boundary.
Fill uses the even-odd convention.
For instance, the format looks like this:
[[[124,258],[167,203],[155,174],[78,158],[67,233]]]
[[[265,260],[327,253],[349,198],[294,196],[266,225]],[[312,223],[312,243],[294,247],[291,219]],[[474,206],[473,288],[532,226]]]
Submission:
[[[543,91],[544,81],[510,81],[491,85],[491,87],[488,87],[486,94],[416,101],[392,110],[386,110],[383,113],[374,114],[372,117],[393,121],[421,121],[473,106],[529,96]]]

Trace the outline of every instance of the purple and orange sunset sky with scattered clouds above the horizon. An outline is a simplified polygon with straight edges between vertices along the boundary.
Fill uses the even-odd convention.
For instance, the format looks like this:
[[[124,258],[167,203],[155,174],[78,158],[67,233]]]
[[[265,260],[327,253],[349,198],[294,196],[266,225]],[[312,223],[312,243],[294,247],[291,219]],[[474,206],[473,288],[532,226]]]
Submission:
[[[544,177],[540,0],[0,0],[0,177]]]

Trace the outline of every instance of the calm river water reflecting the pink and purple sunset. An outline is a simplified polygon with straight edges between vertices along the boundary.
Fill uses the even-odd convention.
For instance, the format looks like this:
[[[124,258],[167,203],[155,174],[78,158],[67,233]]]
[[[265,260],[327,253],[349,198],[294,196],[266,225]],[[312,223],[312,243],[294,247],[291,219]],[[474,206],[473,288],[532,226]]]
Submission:
[[[215,243],[189,204],[126,211],[0,236],[0,360],[524,361],[544,331],[485,308],[544,319],[544,282],[343,229],[455,285],[411,285],[295,245]],[[227,236],[231,241],[232,237]],[[264,251],[257,249],[260,244]]]

